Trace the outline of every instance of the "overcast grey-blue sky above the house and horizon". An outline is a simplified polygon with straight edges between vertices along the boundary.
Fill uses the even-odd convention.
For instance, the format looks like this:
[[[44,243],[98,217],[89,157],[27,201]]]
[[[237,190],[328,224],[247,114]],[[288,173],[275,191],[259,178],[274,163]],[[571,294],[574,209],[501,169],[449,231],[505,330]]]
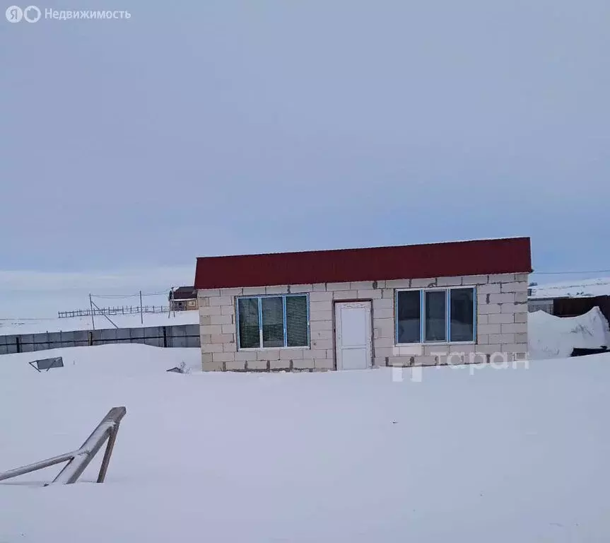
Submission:
[[[610,269],[608,0],[37,5],[0,10],[1,314],[198,255],[530,235]]]

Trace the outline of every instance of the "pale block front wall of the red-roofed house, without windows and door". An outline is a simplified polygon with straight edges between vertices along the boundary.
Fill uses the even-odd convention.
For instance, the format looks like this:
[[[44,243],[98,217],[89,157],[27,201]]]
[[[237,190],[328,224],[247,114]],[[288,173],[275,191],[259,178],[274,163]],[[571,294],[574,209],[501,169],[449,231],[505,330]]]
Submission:
[[[372,300],[374,366],[482,362],[498,353],[512,359],[525,358],[527,279],[527,274],[500,274],[200,290],[203,368],[213,371],[332,370],[336,367],[334,303],[340,300]],[[397,346],[395,289],[442,286],[476,286],[476,342]],[[310,348],[238,351],[235,297],[283,293],[309,294]]]

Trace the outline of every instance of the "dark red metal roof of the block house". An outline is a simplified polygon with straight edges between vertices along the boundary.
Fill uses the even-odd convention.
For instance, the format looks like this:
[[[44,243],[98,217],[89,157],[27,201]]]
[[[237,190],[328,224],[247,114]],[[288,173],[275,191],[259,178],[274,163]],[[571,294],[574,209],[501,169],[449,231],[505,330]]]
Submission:
[[[529,238],[200,257],[195,288],[529,273]]]

